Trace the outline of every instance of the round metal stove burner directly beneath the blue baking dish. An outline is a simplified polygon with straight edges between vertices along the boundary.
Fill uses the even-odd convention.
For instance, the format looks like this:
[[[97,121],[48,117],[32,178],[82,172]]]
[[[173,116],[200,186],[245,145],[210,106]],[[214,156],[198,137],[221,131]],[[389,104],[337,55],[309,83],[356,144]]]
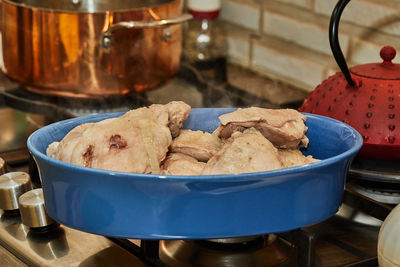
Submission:
[[[294,247],[275,235],[211,240],[164,240],[159,256],[169,266],[293,266]]]

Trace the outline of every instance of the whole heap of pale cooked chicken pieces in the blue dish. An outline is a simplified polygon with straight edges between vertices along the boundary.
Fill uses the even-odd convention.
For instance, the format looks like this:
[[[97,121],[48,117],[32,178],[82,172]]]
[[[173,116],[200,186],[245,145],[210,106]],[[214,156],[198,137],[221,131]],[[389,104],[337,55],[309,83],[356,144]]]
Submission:
[[[167,175],[249,173],[318,161],[297,149],[308,139],[306,117],[295,110],[238,109],[221,115],[212,134],[181,130],[189,113],[190,106],[178,101],[79,125],[50,144],[47,155],[80,166]]]

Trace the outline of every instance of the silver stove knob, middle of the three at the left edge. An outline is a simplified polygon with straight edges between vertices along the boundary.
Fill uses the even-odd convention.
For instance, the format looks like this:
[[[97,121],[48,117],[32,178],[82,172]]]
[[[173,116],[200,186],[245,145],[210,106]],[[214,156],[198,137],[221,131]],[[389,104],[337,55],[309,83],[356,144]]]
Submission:
[[[9,172],[0,176],[0,209],[18,209],[18,198],[32,189],[31,178],[25,172]]]

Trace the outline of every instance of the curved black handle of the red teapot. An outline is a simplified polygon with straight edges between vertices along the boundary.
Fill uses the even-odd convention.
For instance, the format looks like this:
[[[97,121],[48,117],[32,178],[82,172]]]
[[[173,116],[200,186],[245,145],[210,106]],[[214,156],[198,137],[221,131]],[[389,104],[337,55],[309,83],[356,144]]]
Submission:
[[[350,2],[350,0],[339,0],[333,9],[331,15],[331,21],[329,24],[329,43],[331,45],[331,50],[333,56],[335,57],[336,63],[339,65],[339,68],[342,70],[344,77],[346,78],[348,84],[350,86],[355,86],[353,79],[351,78],[349,68],[347,66],[346,60],[343,56],[342,49],[340,49],[339,45],[339,20],[340,16],[346,5]]]

